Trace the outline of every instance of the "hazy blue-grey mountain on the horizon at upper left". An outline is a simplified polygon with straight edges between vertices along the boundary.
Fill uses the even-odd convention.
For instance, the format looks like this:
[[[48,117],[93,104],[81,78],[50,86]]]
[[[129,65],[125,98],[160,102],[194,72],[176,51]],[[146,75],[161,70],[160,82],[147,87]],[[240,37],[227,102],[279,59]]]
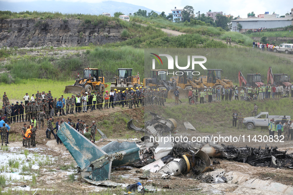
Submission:
[[[88,14],[102,14],[103,12],[109,12],[111,15],[116,11],[121,11],[124,14],[134,13],[138,9],[147,10],[149,9],[144,6],[134,5],[125,2],[117,1],[103,1],[98,3],[88,3],[88,2],[69,2],[69,1],[57,1],[57,0],[37,0],[30,2],[7,2],[0,1],[0,10],[10,10],[10,11],[59,11],[61,13],[88,13]],[[157,13],[161,13],[156,11]]]

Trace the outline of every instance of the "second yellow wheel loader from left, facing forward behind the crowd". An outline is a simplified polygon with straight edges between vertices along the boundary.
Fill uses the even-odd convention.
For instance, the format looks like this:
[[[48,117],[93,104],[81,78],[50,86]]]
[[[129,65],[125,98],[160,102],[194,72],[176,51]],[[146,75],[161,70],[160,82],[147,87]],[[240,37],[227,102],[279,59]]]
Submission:
[[[120,90],[123,91],[129,87],[140,87],[139,76],[132,76],[132,68],[118,68],[117,76],[115,76],[115,82],[111,83],[110,90]]]

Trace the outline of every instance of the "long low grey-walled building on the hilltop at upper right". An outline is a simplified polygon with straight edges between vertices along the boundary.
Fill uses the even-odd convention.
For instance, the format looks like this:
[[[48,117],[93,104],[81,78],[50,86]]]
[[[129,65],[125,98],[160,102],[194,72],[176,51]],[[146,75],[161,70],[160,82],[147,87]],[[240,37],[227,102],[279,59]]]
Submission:
[[[237,25],[241,24],[242,29],[239,31]],[[286,26],[293,25],[293,18],[285,17],[285,18],[242,18],[232,20],[232,31],[236,32],[246,32],[248,30],[257,30],[259,28],[283,28]]]

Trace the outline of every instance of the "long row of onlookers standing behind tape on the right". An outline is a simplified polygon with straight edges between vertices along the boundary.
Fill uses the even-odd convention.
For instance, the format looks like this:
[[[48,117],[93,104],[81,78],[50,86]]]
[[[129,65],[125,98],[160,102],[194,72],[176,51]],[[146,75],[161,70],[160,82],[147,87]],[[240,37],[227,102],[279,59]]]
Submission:
[[[235,87],[226,87],[225,86],[213,86],[205,89],[190,88],[188,93],[189,104],[198,103],[198,97],[200,98],[200,103],[206,102],[206,96],[208,97],[208,102],[212,101],[231,101],[242,100],[242,101],[256,101],[264,100],[266,98],[285,98],[293,97],[293,85],[286,86],[283,88],[282,85],[261,85],[259,87],[251,87],[245,85],[238,89],[238,86]],[[174,92],[175,103],[178,103],[176,97],[179,97],[179,92],[176,90]]]

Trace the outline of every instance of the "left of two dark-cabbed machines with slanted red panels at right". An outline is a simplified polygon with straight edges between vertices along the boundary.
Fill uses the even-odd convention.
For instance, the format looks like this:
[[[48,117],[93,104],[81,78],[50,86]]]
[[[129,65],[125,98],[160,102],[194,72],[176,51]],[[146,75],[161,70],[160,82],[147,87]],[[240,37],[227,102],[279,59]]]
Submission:
[[[246,80],[240,70],[238,72],[238,81],[239,87],[244,87],[245,85],[247,85],[248,87],[259,87],[264,85],[261,74],[247,74]]]

